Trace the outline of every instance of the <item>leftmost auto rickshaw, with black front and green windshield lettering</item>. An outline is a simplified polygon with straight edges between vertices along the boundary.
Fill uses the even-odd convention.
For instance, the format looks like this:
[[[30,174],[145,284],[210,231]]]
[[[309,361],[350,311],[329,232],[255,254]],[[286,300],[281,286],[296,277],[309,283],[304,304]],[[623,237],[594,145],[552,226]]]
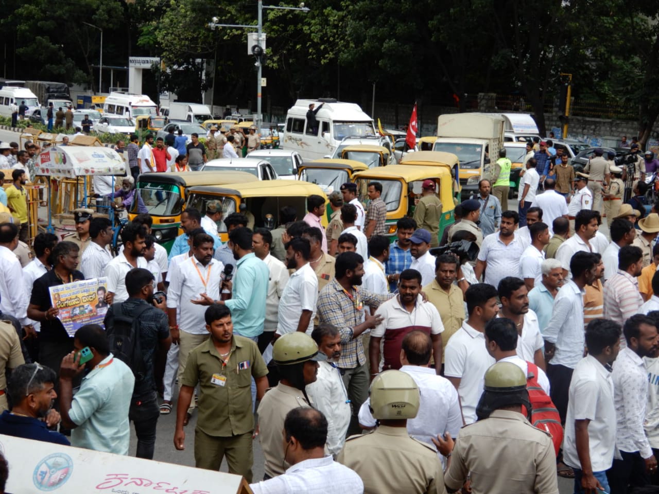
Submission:
[[[185,208],[188,188],[198,185],[221,185],[257,182],[258,178],[244,171],[195,171],[143,173],[137,178],[135,197],[129,211],[132,221],[139,213],[140,203],[154,219],[154,236],[159,244],[171,249],[179,236],[181,213]]]

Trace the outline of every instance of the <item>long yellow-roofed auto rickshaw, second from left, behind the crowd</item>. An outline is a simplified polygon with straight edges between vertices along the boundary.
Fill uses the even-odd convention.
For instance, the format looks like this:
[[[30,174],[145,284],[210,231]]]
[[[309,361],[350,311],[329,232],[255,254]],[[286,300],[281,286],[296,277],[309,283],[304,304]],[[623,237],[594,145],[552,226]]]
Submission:
[[[186,207],[196,207],[202,216],[206,214],[208,201],[222,204],[222,217],[240,212],[248,217],[248,225],[254,229],[265,227],[270,230],[279,226],[279,211],[283,206],[295,207],[302,217],[306,211],[306,199],[312,194],[327,196],[316,184],[301,180],[272,180],[268,182],[246,182],[222,186],[196,186],[187,191]],[[328,225],[326,217],[321,218],[323,226]],[[218,225],[219,238],[229,239],[223,221]]]

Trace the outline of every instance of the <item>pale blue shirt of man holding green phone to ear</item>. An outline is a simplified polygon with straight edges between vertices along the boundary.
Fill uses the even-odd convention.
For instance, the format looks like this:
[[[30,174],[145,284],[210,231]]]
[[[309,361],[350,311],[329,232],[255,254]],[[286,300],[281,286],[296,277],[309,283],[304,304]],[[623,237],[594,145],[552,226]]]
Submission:
[[[83,377],[69,410],[69,418],[78,425],[71,431],[71,445],[128,454],[128,412],[134,385],[129,366],[112,354]]]

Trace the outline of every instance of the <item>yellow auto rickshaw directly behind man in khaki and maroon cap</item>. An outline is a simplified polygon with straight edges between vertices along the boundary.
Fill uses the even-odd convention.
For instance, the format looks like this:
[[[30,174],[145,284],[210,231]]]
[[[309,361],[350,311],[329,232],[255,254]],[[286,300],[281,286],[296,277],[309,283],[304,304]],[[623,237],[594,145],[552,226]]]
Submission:
[[[396,223],[405,216],[412,216],[416,202],[421,197],[424,180],[434,180],[437,184],[437,194],[442,201],[442,219],[440,221],[439,238],[444,229],[455,221],[453,210],[453,177],[448,167],[389,165],[384,168],[374,168],[360,171],[353,175],[357,184],[359,201],[368,209],[368,196],[363,192],[368,190],[369,182],[382,184],[380,198],[387,205],[387,236],[395,239]]]

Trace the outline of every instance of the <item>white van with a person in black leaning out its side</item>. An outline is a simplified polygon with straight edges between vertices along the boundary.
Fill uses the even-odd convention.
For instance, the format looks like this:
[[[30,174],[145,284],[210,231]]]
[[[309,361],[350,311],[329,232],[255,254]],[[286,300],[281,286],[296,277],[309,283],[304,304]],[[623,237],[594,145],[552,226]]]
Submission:
[[[316,113],[317,129],[306,123],[306,112],[311,103],[316,109],[324,103]],[[375,135],[373,120],[356,103],[341,103],[336,99],[298,99],[286,115],[281,148],[298,151],[306,159],[320,159],[333,155],[343,138]]]

